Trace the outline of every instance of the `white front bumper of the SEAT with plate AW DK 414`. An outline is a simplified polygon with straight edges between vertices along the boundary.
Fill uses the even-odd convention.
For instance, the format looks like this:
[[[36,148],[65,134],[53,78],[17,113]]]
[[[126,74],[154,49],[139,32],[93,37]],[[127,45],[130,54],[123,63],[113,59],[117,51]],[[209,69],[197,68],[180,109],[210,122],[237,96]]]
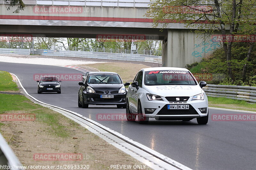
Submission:
[[[187,102],[169,102],[165,98],[164,101],[149,101],[145,95],[141,100],[142,112],[145,117],[155,118],[157,120],[182,120],[183,118],[197,118],[208,115],[207,97],[204,100],[193,100],[192,97]],[[143,101],[143,102],[142,102]],[[167,105],[189,105],[189,109],[167,109]],[[199,108],[207,108],[206,113],[201,113]],[[144,108],[155,108],[152,114],[145,114]]]

